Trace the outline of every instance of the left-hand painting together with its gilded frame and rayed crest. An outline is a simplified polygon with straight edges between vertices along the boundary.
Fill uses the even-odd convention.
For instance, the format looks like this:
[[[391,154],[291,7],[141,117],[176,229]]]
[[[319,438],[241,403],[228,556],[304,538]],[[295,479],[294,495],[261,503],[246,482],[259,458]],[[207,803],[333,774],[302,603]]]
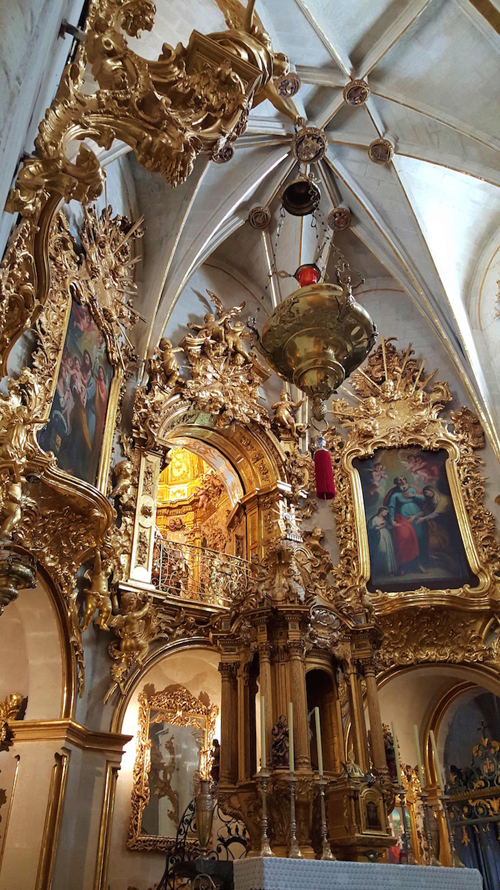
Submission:
[[[111,207],[100,216],[85,207],[78,254],[64,214],[53,229],[55,285],[44,311],[44,359],[50,357],[52,368],[37,441],[55,455],[60,471],[105,494],[125,368],[133,358],[126,329],[137,320],[132,248],[141,221],[113,217]]]

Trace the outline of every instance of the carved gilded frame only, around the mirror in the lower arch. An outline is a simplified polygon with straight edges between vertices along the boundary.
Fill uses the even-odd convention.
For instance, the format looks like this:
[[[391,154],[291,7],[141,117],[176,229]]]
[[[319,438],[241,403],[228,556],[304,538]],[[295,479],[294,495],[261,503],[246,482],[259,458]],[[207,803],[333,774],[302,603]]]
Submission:
[[[151,711],[157,711],[165,721],[173,726],[198,726],[205,729],[205,744],[200,751],[198,773],[210,773],[212,742],[214,741],[215,719],[219,713],[216,705],[205,705],[195,698],[184,686],[178,685],[153,692],[141,692],[138,696],[139,716],[138,735],[133,765],[132,813],[129,822],[127,848],[129,850],[168,853],[173,850],[175,837],[146,835],[142,829],[142,815],[149,804],[149,772],[151,769],[151,741],[149,725]]]

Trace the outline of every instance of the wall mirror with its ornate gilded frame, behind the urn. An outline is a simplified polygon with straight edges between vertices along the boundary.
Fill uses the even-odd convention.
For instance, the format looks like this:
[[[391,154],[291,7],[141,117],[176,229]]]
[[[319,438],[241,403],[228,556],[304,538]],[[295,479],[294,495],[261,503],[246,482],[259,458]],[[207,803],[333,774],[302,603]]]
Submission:
[[[183,686],[139,695],[129,850],[173,849],[197,777],[209,773],[218,713]]]

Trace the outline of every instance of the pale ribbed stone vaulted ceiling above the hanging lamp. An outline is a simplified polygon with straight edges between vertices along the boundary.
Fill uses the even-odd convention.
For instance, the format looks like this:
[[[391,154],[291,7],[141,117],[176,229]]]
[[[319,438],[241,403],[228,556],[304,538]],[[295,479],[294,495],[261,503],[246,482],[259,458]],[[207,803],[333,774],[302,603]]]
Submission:
[[[238,13],[237,0],[157,0],[155,27],[134,48],[153,58],[164,42],[187,44],[193,27],[222,30],[225,6]],[[301,78],[298,114],[327,132],[327,155],[313,171],[320,210],[351,210],[351,230],[335,236],[335,245],[368,278],[389,279],[423,313],[460,368],[498,453],[500,360],[495,330],[480,329],[477,306],[478,280],[496,254],[500,228],[498,0],[258,0],[256,12],[274,50],[286,53]],[[367,79],[364,106],[343,99],[353,77]],[[150,320],[144,352],[157,344],[190,276],[210,256],[238,267],[270,301],[265,239],[247,217],[251,207],[269,205],[274,239],[283,183],[297,172],[293,134],[292,120],[262,103],[234,158],[224,165],[198,158],[176,190],[130,160],[149,230],[141,272],[141,311]],[[395,147],[386,166],[367,155],[379,135]],[[278,267],[287,263],[292,272],[300,225],[286,223],[279,247]],[[494,312],[494,295],[489,300]]]

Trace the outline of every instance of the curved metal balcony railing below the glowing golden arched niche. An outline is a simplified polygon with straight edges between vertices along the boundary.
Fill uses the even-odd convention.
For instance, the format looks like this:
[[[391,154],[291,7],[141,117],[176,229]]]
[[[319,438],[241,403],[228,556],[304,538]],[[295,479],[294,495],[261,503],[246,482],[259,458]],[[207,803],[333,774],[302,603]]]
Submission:
[[[163,538],[155,543],[152,581],[171,596],[229,606],[246,589],[250,570],[250,562],[207,547]]]

